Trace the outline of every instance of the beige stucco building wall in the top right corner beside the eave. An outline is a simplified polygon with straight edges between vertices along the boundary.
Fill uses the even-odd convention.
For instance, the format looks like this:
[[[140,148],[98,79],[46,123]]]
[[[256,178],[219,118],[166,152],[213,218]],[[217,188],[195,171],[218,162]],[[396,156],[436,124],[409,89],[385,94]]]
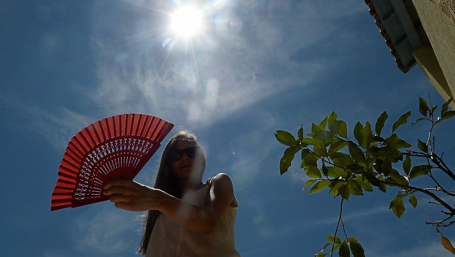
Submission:
[[[441,78],[431,79],[429,77],[428,79],[436,90],[440,92],[441,96],[447,100],[455,96],[455,1],[412,0],[412,3],[428,35],[434,51],[434,57],[440,66],[446,85],[444,83],[441,84]],[[416,60],[421,59],[418,63],[428,77],[428,68],[422,65],[424,64],[422,62],[424,60],[422,59],[422,54],[418,56],[418,54],[414,53],[414,56]],[[425,62],[427,62],[426,66],[429,67],[429,61]],[[455,109],[455,102],[452,102],[450,106]]]

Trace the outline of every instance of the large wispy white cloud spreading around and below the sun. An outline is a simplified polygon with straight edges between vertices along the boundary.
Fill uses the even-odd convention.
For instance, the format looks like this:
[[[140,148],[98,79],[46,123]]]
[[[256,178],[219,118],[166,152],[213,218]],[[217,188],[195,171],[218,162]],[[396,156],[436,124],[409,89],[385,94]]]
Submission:
[[[155,4],[158,7],[149,6],[149,12],[171,11],[159,8],[172,6]],[[93,100],[108,112],[148,112],[192,127],[213,124],[314,80],[322,70],[321,63],[304,58],[296,61],[293,55],[330,35],[335,26],[328,19],[362,10],[351,4],[356,8],[345,7],[344,2],[329,9],[282,1],[224,2],[223,9],[208,8],[215,22],[187,52],[179,49],[178,42],[173,48],[161,46],[166,31],[160,30],[150,13],[124,11],[111,4],[98,6],[114,16],[151,19],[151,27],[143,27],[143,21],[129,21],[106,30],[103,17],[94,19],[100,84],[93,91]],[[165,15],[156,16],[165,19]],[[289,25],[284,18],[294,23]],[[114,39],[101,40],[106,34]]]

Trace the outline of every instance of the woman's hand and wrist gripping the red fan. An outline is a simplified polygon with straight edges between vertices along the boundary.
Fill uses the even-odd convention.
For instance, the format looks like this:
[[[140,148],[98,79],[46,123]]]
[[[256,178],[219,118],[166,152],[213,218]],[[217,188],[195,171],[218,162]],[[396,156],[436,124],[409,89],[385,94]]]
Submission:
[[[110,195],[115,207],[128,211],[145,211],[159,209],[166,193],[133,180],[117,179],[107,182],[104,195]]]

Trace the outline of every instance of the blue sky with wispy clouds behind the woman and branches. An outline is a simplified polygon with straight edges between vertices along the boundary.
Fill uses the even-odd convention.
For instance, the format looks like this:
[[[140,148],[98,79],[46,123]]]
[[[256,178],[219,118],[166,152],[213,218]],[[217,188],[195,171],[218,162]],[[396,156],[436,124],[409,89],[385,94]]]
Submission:
[[[67,142],[120,113],[147,113],[198,135],[205,178],[228,173],[240,207],[242,256],[313,256],[333,234],[339,200],[302,191],[304,172],[283,176],[278,129],[309,130],[332,111],[390,127],[417,97],[442,98],[418,67],[403,74],[360,1],[205,1],[207,30],[186,45],[166,30],[178,1],[0,3],[0,248],[4,256],[132,256],[141,213],[99,203],[50,212]],[[444,125],[444,124],[443,124]],[[436,144],[455,166],[448,121]],[[398,129],[409,142],[428,127]],[[386,132],[386,129],[385,129]],[[438,140],[441,138],[441,140]],[[166,141],[167,139],[165,139]],[[136,180],[153,183],[158,154]],[[397,190],[351,197],[344,221],[367,256],[449,256],[425,221],[439,209],[419,196],[398,219]],[[453,230],[443,230],[453,242]]]

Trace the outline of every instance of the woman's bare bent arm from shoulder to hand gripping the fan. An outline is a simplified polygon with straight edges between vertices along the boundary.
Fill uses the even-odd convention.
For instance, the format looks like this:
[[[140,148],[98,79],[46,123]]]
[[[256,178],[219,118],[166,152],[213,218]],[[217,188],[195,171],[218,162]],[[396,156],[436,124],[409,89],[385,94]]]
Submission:
[[[111,195],[110,199],[117,208],[130,211],[158,210],[197,233],[211,232],[234,199],[232,181],[224,173],[212,178],[210,199],[204,206],[186,203],[132,180],[111,181],[106,184],[104,194]]]

